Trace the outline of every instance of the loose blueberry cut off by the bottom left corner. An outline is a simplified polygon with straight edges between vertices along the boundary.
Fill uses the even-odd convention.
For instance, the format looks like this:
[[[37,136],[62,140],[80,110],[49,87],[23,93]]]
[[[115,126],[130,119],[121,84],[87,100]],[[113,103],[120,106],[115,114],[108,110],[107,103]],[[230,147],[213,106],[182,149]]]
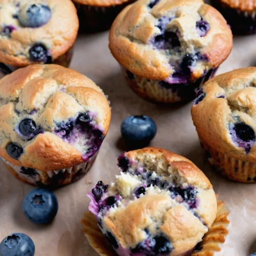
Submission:
[[[23,233],[12,233],[0,244],[1,256],[33,256],[34,254],[33,241]]]

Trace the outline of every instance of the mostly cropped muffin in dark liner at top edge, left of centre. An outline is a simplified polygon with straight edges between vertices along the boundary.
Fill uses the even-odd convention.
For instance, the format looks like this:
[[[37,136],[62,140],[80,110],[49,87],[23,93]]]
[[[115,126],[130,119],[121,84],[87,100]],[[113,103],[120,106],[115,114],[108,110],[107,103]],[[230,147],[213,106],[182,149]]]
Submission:
[[[79,17],[81,32],[110,29],[117,14],[135,0],[73,0]]]

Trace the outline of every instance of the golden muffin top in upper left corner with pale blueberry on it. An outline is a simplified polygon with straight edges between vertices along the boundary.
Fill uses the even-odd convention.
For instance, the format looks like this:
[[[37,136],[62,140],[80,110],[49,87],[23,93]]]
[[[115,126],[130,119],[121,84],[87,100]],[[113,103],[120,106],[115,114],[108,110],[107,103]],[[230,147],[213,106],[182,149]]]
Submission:
[[[0,62],[51,63],[73,46],[78,26],[71,0],[0,0]]]

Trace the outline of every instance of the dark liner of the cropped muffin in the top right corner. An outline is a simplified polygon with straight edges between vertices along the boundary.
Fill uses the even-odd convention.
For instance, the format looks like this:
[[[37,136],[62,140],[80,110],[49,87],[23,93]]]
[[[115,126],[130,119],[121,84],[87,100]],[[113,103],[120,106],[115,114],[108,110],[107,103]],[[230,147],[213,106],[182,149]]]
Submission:
[[[227,23],[231,26],[233,34],[246,35],[256,33],[256,10],[250,12],[241,11],[221,3],[220,0],[215,0],[215,7],[225,17]]]

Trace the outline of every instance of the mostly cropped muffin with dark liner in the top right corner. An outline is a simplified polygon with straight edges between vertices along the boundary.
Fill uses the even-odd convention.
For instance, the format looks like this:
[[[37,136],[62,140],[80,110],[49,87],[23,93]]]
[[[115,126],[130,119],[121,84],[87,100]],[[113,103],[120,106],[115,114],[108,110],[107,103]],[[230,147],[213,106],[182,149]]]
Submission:
[[[215,0],[234,34],[256,33],[256,0]]]

